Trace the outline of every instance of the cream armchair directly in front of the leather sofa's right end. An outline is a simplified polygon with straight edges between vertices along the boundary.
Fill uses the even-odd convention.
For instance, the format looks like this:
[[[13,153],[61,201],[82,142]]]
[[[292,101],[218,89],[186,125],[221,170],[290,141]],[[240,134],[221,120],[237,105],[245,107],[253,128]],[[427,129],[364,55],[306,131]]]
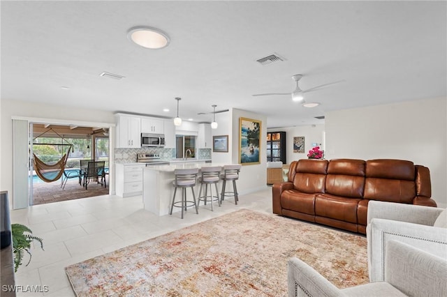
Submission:
[[[439,222],[444,208],[369,201],[367,214],[367,252],[369,281],[385,280],[386,247],[400,241],[447,259],[446,222]],[[439,219],[438,219],[439,218]]]

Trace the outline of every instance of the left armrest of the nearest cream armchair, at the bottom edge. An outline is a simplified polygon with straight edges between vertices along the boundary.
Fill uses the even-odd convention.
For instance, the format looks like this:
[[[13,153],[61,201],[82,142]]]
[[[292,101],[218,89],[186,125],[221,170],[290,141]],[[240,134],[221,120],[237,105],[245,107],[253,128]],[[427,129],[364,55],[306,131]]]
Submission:
[[[323,275],[298,258],[287,263],[288,297],[297,296],[344,296],[342,292]]]

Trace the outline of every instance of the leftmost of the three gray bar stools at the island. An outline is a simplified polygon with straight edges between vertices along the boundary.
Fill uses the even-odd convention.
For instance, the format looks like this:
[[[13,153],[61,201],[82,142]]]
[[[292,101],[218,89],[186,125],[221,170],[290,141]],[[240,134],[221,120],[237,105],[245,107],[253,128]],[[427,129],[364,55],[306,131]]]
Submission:
[[[194,195],[194,186],[196,185],[197,174],[198,174],[198,168],[174,170],[175,180],[173,181],[173,186],[175,187],[175,190],[173,195],[173,203],[170,205],[170,212],[169,212],[170,215],[173,214],[174,206],[182,208],[182,218],[183,218],[183,211],[186,211],[187,207],[195,206],[196,213],[198,214],[196,195]],[[175,194],[177,193],[177,188],[182,188],[182,201],[175,201]],[[191,191],[193,192],[193,201],[186,200],[186,188],[191,188]],[[177,204],[182,205],[179,206]]]

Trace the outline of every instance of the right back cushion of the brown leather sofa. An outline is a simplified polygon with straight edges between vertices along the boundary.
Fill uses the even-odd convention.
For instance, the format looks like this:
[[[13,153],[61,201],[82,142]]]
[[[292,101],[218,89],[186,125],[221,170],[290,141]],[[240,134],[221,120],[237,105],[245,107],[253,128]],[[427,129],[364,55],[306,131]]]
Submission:
[[[416,169],[411,161],[367,160],[365,199],[412,204]]]

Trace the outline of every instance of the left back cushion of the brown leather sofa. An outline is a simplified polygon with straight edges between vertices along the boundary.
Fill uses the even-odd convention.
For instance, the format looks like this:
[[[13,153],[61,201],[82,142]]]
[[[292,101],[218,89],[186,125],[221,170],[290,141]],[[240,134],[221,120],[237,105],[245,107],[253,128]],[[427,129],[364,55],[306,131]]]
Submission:
[[[328,160],[298,160],[293,188],[303,193],[324,193]]]

